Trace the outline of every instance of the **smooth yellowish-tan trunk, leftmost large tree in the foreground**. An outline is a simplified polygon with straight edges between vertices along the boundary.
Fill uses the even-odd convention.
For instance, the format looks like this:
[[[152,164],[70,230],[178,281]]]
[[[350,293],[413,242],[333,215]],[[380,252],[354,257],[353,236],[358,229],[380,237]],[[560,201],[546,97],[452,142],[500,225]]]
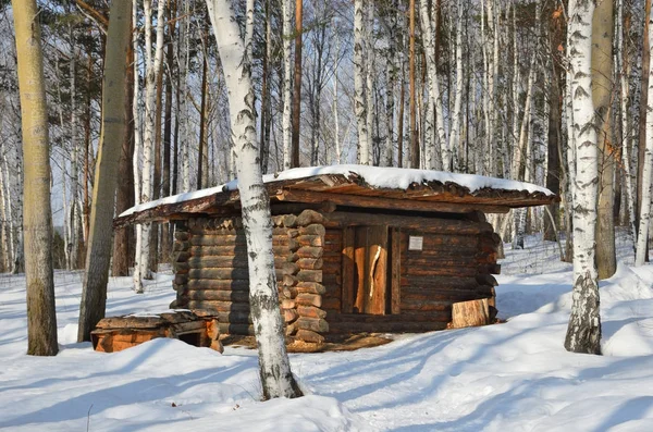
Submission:
[[[54,356],[57,314],[52,274],[50,153],[44,57],[36,0],[13,0],[25,164],[23,235],[27,285],[27,354]]]

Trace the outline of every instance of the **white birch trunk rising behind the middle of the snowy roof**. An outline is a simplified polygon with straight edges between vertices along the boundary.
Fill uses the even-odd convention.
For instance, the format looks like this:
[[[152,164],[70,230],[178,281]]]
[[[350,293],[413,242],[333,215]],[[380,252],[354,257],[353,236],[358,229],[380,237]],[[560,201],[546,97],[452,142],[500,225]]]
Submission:
[[[365,82],[365,2],[354,1],[354,113],[358,126],[358,163],[368,165],[370,145]]]

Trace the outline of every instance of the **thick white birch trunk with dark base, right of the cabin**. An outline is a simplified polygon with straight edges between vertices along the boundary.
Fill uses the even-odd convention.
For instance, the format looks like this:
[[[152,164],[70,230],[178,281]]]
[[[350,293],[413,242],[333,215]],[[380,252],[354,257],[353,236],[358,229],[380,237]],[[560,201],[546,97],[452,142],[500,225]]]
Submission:
[[[574,109],[574,292],[565,348],[601,354],[601,316],[595,258],[597,148],[592,103],[592,0],[569,2],[570,95]]]

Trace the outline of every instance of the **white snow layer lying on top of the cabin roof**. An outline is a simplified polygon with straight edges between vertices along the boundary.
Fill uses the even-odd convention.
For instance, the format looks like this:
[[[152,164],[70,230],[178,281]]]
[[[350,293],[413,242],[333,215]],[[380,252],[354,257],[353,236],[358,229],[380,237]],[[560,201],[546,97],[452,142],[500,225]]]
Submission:
[[[517,182],[507,178],[495,178],[477,174],[459,174],[433,170],[382,168],[356,164],[294,168],[279,173],[263,175],[263,182],[270,183],[274,181],[298,180],[322,174],[357,174],[362,177],[371,187],[383,189],[406,190],[412,183],[421,184],[426,182],[440,182],[443,184],[455,183],[459,186],[467,187],[470,193],[483,188],[493,188],[516,192],[526,190],[529,194],[542,193],[547,196],[555,195],[545,187],[538,186],[532,183]],[[124,218],[136,212],[149,210],[158,206],[184,202],[192,199],[208,197],[222,192],[236,190],[237,187],[238,181],[232,180],[231,182],[219,186],[183,193],[157,199],[155,201],[139,203],[123,211],[121,214],[119,214],[119,218]]]

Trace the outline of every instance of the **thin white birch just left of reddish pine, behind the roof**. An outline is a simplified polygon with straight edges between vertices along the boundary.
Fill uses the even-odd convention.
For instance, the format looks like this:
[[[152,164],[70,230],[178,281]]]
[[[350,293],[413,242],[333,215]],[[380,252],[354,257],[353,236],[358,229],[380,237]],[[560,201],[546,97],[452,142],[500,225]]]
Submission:
[[[291,140],[293,135],[291,118],[293,113],[292,86],[293,86],[293,0],[282,0],[283,8],[283,169],[289,170],[293,155]]]

